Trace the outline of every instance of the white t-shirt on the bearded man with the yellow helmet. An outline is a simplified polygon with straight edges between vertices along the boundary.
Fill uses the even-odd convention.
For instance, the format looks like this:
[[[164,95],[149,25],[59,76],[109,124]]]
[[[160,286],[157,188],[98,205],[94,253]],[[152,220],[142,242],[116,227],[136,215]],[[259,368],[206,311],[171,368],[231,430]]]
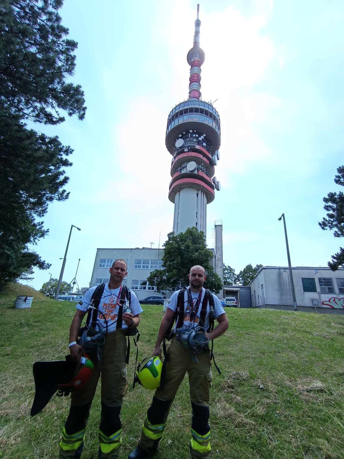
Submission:
[[[179,291],[176,291],[176,292],[174,292],[172,294],[172,296],[170,298],[170,302],[167,304],[167,308],[172,309],[172,311],[176,311],[176,309],[177,309],[177,300],[178,300]],[[204,295],[205,295],[205,288],[202,287],[202,291],[201,292],[202,292],[202,294],[201,294],[200,306],[199,306],[198,311],[197,311],[196,315],[194,316],[194,319],[192,320],[192,322],[190,322],[190,314],[186,313],[187,312],[187,308],[188,308],[188,294],[187,294],[187,292],[184,293],[184,322],[183,322],[183,325],[187,327],[187,326],[190,325],[190,323],[191,324],[194,323],[196,325],[200,325],[201,327],[204,326],[204,329],[206,331],[209,328],[210,307],[209,307],[209,301],[208,301],[206,314],[205,314],[205,324],[203,325],[200,322],[200,313],[201,313],[201,309],[202,309],[203,298],[204,298]],[[191,297],[192,297],[192,301],[194,302],[194,306],[196,305],[196,302],[197,302],[197,299],[198,299],[199,295],[200,295],[200,292],[193,292],[193,291],[191,292]],[[217,319],[218,316],[223,314],[225,311],[222,308],[222,304],[221,304],[220,300],[214,294],[212,294],[212,296],[214,298],[214,314],[215,314],[215,318]],[[191,310],[190,310],[190,312],[191,312]],[[178,321],[178,319],[177,319],[177,321]],[[177,324],[175,324],[174,330],[176,330],[176,327],[177,327]]]

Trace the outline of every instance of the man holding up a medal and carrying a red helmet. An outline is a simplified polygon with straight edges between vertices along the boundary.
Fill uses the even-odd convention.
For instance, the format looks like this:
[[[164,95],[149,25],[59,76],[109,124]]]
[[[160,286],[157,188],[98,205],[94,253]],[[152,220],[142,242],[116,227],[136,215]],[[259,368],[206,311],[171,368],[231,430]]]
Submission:
[[[89,410],[94,397],[101,373],[101,416],[99,426],[99,459],[117,459],[122,443],[122,424],[120,411],[122,398],[127,391],[127,368],[126,334],[128,329],[139,325],[139,313],[142,312],[140,303],[135,293],[130,290],[131,313],[122,312],[123,306],[120,299],[123,298],[122,281],[127,273],[127,262],[116,260],[111,268],[110,280],[104,287],[100,298],[97,320],[100,327],[105,327],[105,319],[108,323],[108,333],[105,338],[105,347],[102,349],[101,361],[98,361],[96,353],[90,357],[94,363],[94,371],[87,384],[80,390],[71,393],[71,408],[65,423],[60,442],[60,459],[79,459],[83,450]],[[97,286],[91,287],[83,299],[77,304],[77,312],[72,320],[69,332],[69,350],[74,360],[77,360],[82,347],[77,344],[78,331],[83,317],[92,301],[92,295]],[[126,306],[129,307],[127,298]],[[104,319],[105,317],[105,319]],[[117,321],[118,317],[121,323]],[[117,323],[118,322],[118,323]]]

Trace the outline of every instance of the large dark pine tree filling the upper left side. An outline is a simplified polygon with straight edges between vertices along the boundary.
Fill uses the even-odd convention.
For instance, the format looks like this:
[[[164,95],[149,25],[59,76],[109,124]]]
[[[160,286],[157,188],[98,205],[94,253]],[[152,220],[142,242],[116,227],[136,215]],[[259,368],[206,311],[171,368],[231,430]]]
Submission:
[[[25,121],[58,124],[85,116],[80,85],[67,81],[77,43],[67,39],[61,0],[3,0],[0,5],[0,285],[49,268],[28,250],[46,235],[49,202],[68,198],[69,146],[27,129]]]

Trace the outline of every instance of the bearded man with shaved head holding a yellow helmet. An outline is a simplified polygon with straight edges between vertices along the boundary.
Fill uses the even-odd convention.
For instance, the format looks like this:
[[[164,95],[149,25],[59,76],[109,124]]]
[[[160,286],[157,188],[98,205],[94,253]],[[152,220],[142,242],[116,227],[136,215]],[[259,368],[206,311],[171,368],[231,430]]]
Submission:
[[[190,285],[187,289],[173,293],[166,313],[161,321],[153,355],[161,357],[161,342],[169,329],[172,320],[176,319],[174,332],[183,328],[204,328],[209,341],[221,336],[228,328],[228,319],[220,300],[211,293],[214,314],[218,325],[210,331],[211,308],[207,291],[203,288],[205,269],[193,266],[190,269]],[[195,354],[194,350],[179,345],[176,335],[168,347],[165,382],[158,388],[152,404],[147,411],[141,436],[137,447],[129,454],[128,459],[147,459],[158,448],[158,443],[165,429],[168,412],[178,387],[186,372],[189,374],[190,399],[192,406],[190,453],[193,459],[207,459],[211,455],[209,401],[211,387],[211,353],[209,348]],[[163,378],[161,378],[163,379]]]

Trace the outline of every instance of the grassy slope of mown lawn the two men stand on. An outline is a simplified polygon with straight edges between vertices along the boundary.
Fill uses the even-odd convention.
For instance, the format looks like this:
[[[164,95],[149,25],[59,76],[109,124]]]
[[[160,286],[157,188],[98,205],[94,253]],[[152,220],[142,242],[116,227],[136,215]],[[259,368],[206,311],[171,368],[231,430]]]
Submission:
[[[33,292],[29,309],[13,308],[29,287],[0,293],[0,457],[54,459],[69,398],[53,397],[31,418],[32,364],[67,353],[74,305]],[[32,294],[32,293],[30,293]],[[213,458],[344,457],[344,316],[269,309],[227,309],[229,329],[215,342],[211,389]],[[144,306],[139,358],[151,352],[161,306]],[[133,379],[134,352],[128,367]],[[136,444],[153,392],[136,386],[122,408],[121,458]],[[99,388],[82,458],[98,451]],[[189,458],[190,404],[185,378],[172,406],[156,459]]]

